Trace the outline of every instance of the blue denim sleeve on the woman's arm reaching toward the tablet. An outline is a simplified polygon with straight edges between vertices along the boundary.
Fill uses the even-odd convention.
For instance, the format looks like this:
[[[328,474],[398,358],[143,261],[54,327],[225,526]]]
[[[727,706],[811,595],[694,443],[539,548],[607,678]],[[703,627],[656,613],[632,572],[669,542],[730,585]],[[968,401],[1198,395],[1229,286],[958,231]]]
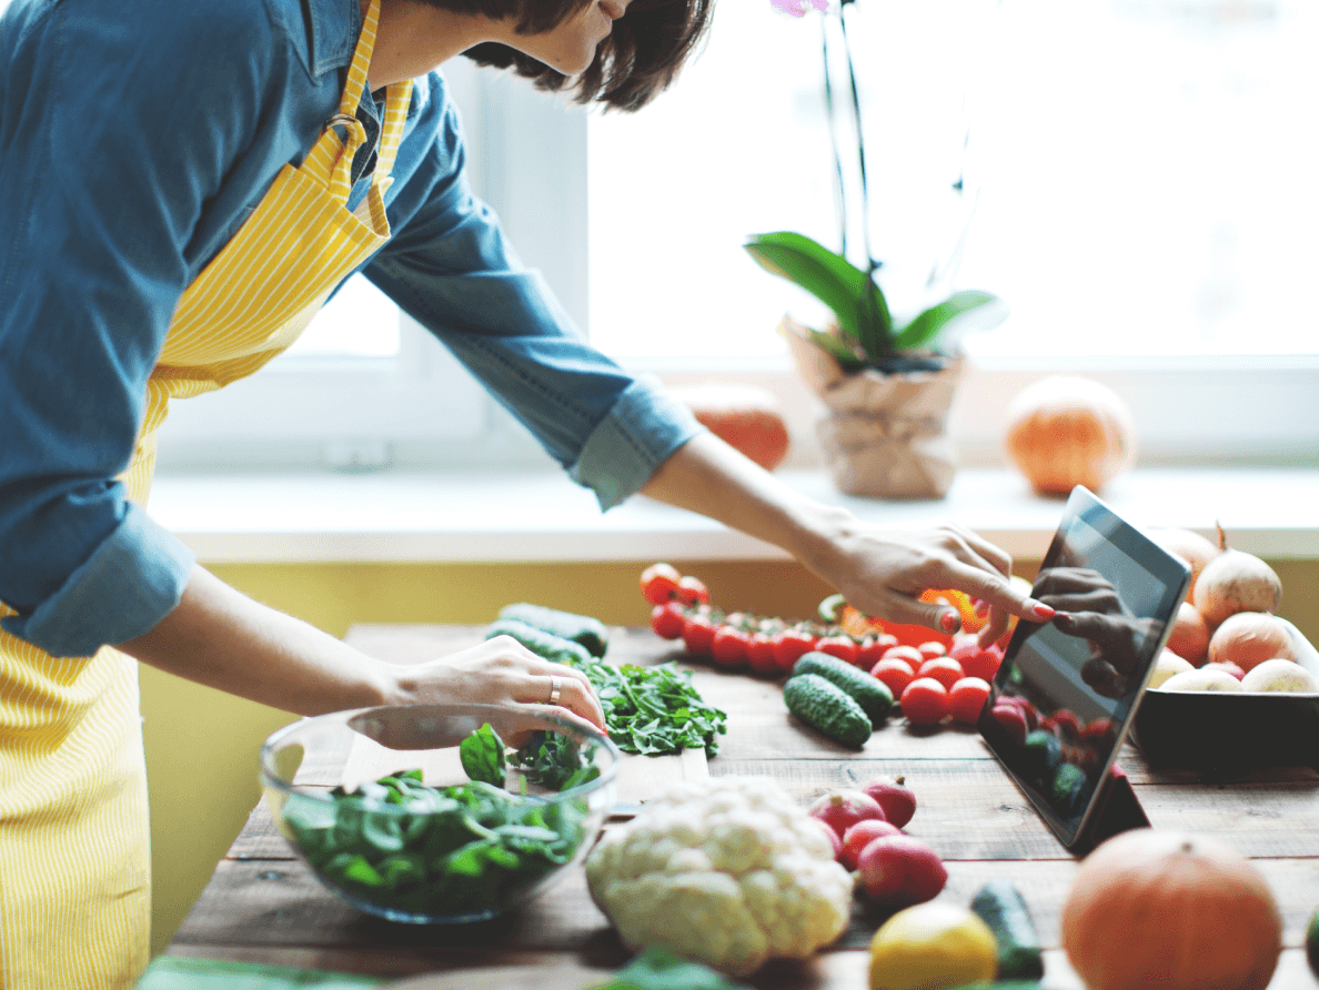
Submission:
[[[390,204],[394,236],[365,274],[609,509],[704,427],[657,381],[592,348],[521,264],[495,214],[472,196],[456,113],[442,82],[429,83],[431,120],[418,131],[430,145]]]

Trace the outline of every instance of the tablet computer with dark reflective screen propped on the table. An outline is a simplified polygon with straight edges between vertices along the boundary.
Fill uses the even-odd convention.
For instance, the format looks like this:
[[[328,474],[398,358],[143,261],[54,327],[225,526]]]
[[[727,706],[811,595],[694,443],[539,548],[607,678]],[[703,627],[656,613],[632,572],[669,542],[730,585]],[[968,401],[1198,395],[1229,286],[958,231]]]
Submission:
[[[977,728],[1068,849],[1086,844],[1191,569],[1087,489],[1072,490],[1034,581],[1058,614],[1021,621]]]

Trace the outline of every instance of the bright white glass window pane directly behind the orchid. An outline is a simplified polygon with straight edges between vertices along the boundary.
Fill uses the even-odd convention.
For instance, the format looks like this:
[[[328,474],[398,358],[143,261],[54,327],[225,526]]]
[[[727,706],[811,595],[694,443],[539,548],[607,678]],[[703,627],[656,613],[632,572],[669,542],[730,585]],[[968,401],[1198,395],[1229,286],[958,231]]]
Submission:
[[[819,20],[725,0],[670,92],[592,116],[590,326],[607,352],[781,353],[785,310],[824,318],[741,249],[773,229],[839,247]],[[1319,352],[1314,4],[857,0],[848,34],[896,310],[998,294],[1012,316],[968,340],[983,355]]]

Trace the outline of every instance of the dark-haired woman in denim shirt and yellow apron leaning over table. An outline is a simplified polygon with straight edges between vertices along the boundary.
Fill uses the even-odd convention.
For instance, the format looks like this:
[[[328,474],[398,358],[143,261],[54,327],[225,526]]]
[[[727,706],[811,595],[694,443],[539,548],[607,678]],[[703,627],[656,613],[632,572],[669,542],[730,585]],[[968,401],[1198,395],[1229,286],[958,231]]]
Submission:
[[[951,630],[960,588],[1047,609],[969,533],[818,505],[582,343],[472,199],[459,53],[623,109],[708,0],[13,0],[0,21],[0,986],[146,962],[136,662],[299,714],[437,699],[566,711],[586,679],[495,639],[397,668],[198,567],[145,505],[169,403],[255,372],[348,274],[430,328],[601,506],[648,494],[777,543],[857,606]],[[627,15],[627,16],[624,16]]]

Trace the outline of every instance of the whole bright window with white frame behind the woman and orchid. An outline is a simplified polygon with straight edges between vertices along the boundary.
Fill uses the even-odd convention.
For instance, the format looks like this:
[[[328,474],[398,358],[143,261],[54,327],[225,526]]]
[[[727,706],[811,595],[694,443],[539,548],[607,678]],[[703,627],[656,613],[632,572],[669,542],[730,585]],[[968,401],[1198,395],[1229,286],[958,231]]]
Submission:
[[[1012,395],[1070,372],[1128,399],[1146,463],[1319,464],[1319,8],[857,0],[848,24],[894,307],[922,305],[940,270],[1012,308],[966,340],[963,463],[996,463]],[[836,244],[818,16],[721,0],[706,50],[637,115],[464,59],[445,74],[474,186],[601,349],[673,380],[764,382],[811,417],[774,326],[823,314],[741,243],[797,229]],[[409,320],[348,344],[318,332],[175,403],[162,464],[543,460]]]

